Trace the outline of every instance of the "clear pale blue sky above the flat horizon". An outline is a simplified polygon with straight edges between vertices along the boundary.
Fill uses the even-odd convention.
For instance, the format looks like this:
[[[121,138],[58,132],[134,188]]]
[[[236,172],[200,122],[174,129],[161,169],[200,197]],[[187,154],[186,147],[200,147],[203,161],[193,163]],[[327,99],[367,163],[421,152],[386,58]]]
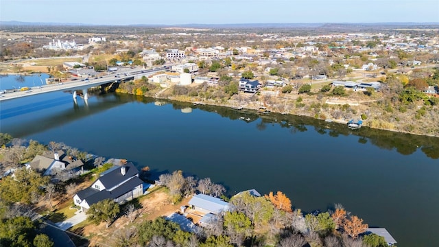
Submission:
[[[0,0],[0,20],[105,25],[439,22],[439,1]]]

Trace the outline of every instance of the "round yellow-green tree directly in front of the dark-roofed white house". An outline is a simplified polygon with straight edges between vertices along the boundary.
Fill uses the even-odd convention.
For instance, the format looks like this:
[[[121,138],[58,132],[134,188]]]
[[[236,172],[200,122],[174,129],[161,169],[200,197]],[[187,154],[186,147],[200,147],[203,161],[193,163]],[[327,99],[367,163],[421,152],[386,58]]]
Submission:
[[[106,222],[106,227],[108,228],[119,211],[120,208],[117,202],[111,199],[105,199],[92,204],[90,209],[86,212],[86,215],[88,220],[91,220],[95,224]]]

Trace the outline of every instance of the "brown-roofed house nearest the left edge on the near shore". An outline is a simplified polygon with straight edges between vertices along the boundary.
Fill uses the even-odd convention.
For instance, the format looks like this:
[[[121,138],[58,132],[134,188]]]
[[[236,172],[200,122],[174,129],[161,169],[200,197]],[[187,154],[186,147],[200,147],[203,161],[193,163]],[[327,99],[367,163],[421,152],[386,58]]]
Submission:
[[[37,155],[29,163],[32,169],[42,172],[44,176],[53,174],[56,169],[67,170],[73,174],[79,172],[83,165],[81,160],[67,156],[62,150],[47,155]]]

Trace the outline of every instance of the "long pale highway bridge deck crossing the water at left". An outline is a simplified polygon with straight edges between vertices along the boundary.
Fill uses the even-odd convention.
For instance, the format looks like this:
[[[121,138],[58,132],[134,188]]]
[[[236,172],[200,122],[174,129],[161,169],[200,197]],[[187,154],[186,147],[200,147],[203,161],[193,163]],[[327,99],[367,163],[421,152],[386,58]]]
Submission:
[[[17,99],[20,97],[27,97],[32,95],[38,95],[43,93],[51,93],[56,91],[75,91],[82,89],[89,89],[95,86],[110,82],[121,82],[122,80],[133,80],[134,78],[141,78],[143,75],[148,76],[156,72],[166,71],[168,67],[153,68],[153,69],[132,69],[124,73],[114,73],[110,75],[104,75],[99,78],[83,78],[80,80],[71,80],[68,82],[47,84],[43,86],[29,87],[27,91],[15,91],[11,93],[1,93],[0,102],[10,99]]]

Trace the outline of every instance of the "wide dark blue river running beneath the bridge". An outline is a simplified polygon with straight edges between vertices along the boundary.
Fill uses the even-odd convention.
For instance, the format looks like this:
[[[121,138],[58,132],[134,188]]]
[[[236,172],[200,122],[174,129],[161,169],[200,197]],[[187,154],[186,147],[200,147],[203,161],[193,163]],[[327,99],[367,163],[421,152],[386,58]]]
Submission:
[[[181,169],[229,194],[283,191],[305,212],[340,203],[400,247],[439,246],[438,138],[111,93],[88,104],[47,93],[0,109],[0,130],[14,137],[126,158],[153,176]]]

